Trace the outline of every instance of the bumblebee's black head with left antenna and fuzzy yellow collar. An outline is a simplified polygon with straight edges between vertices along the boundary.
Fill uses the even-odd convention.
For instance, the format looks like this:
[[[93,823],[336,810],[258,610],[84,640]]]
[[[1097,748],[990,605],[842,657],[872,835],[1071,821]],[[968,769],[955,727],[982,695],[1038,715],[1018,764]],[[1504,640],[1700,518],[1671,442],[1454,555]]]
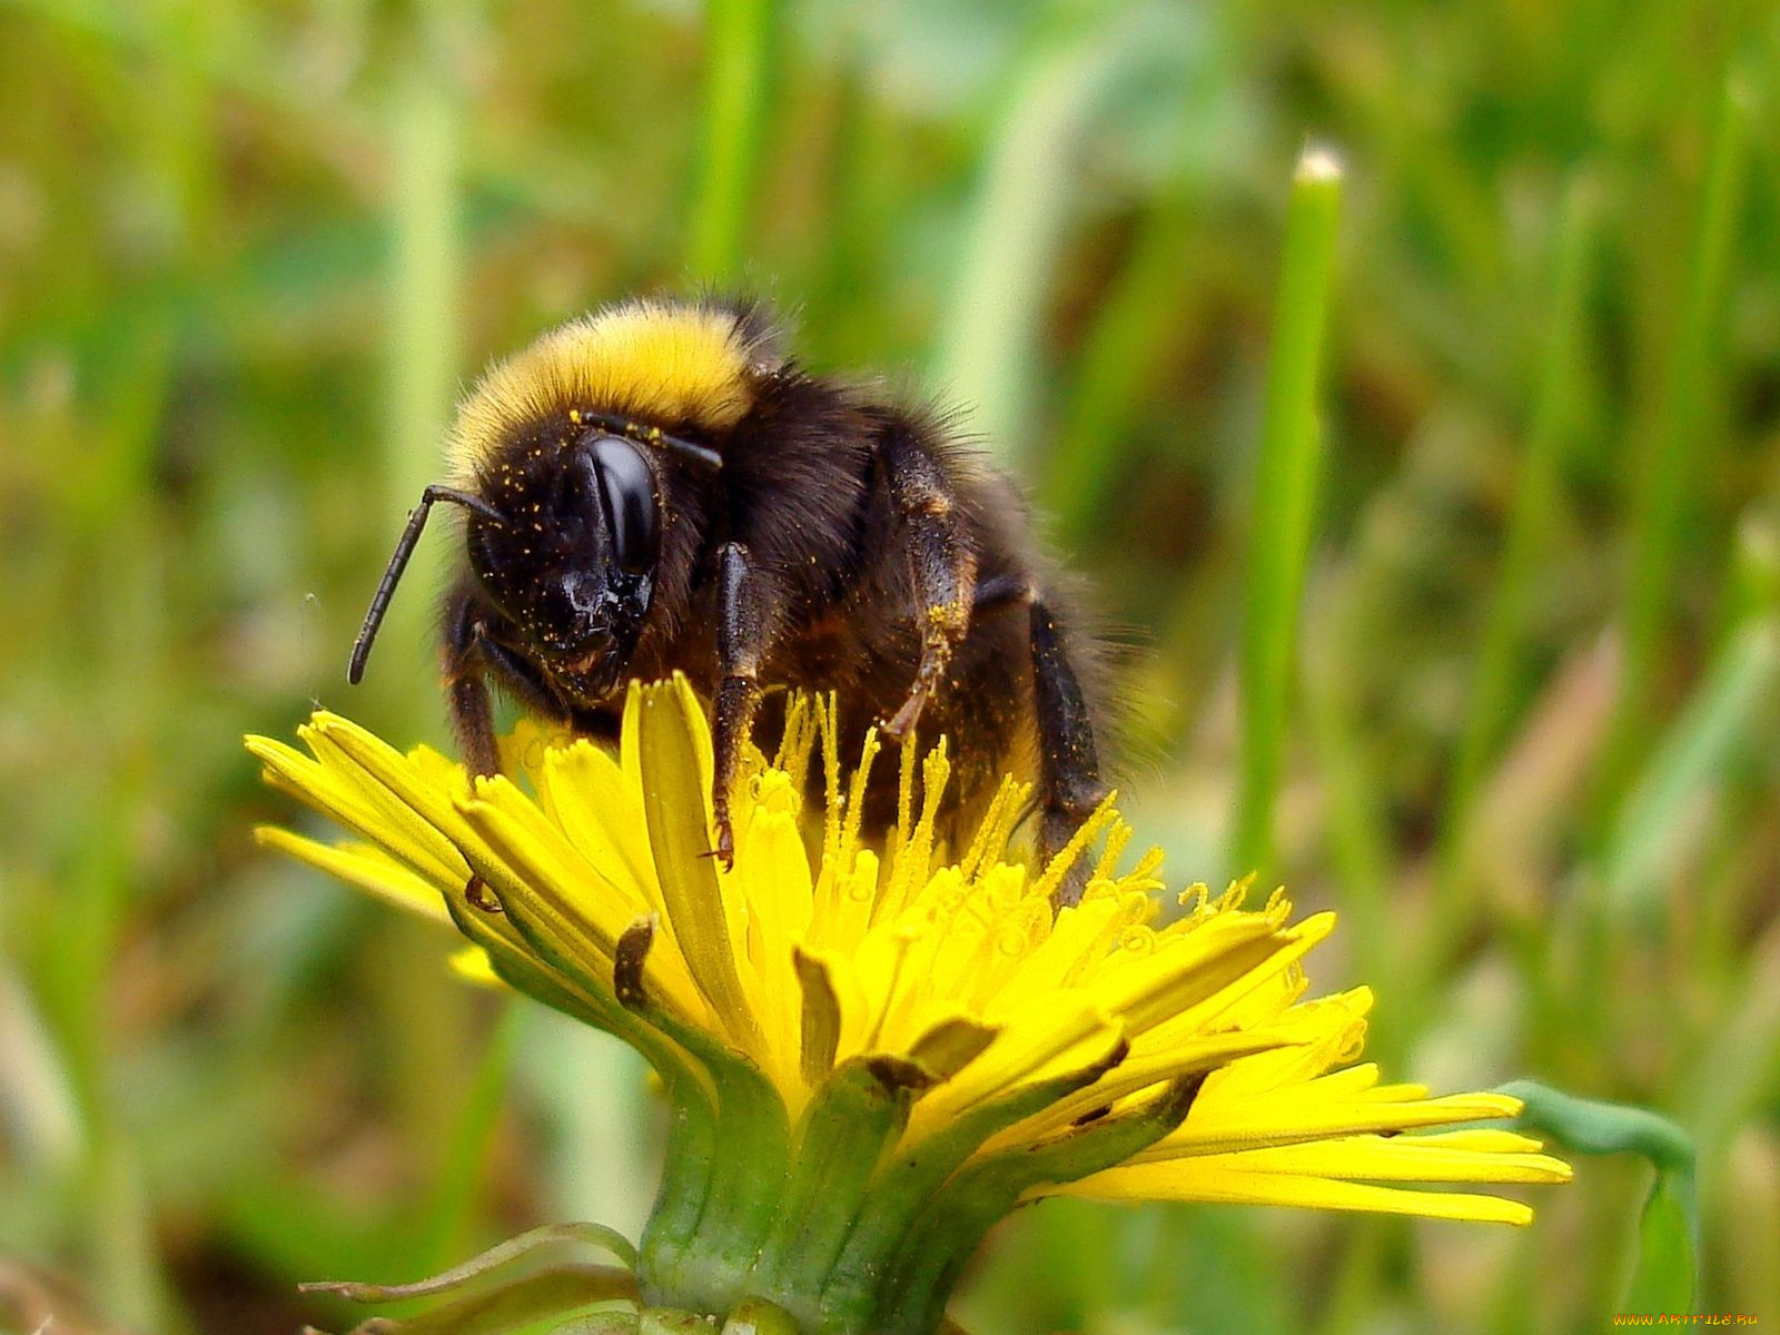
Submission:
[[[363,676],[427,511],[443,500],[468,514],[470,568],[500,612],[488,634],[566,703],[602,703],[655,591],[664,468],[723,466],[716,450],[662,427],[730,431],[776,365],[769,333],[748,308],[634,301],[491,367],[457,411],[450,484],[422,493],[395,545],[347,680]]]

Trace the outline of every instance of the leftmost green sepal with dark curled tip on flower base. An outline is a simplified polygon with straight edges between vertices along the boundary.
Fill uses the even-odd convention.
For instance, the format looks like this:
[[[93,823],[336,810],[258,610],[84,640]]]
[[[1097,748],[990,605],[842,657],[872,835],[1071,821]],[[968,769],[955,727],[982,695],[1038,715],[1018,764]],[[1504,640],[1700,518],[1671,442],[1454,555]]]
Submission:
[[[740,1283],[774,1223],[780,1193],[790,1169],[790,1123],[785,1102],[765,1073],[721,1038],[687,1024],[657,1006],[643,984],[643,963],[655,938],[650,920],[632,924],[618,942],[612,991],[619,1004],[644,1018],[703,1064],[717,1091],[716,1155],[710,1187],[696,1223],[680,1237],[668,1237],[671,1210],[680,1207],[660,1196],[643,1230],[643,1260],[637,1274],[646,1296],[671,1294],[710,1312],[723,1312],[742,1296]],[[698,1248],[682,1248],[685,1237]]]

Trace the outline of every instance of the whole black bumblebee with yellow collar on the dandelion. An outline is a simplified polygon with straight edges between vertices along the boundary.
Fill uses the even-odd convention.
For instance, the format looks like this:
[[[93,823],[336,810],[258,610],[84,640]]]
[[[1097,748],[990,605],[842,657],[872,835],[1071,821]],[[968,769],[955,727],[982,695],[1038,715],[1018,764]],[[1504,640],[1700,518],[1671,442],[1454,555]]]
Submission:
[[[491,684],[612,739],[623,684],[678,669],[710,701],[726,863],[742,746],[785,687],[837,694],[842,755],[872,724],[951,737],[942,815],[1029,774],[1045,856],[1104,797],[1096,641],[1059,602],[1018,490],[942,415],[801,370],[758,304],[628,301],[497,363],[457,411],[449,481],[408,516],[354,684],[440,502],[463,511],[441,653],[475,773],[500,767]],[[879,771],[867,828],[895,819]]]

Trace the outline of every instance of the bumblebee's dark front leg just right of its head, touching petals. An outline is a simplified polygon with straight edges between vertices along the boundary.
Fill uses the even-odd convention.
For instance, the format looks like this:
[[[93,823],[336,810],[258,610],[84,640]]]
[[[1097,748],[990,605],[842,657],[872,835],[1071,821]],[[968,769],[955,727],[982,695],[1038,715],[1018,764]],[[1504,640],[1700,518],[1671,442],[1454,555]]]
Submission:
[[[735,862],[730,826],[730,790],[742,767],[742,746],[760,708],[760,664],[783,618],[778,586],[748,559],[742,543],[724,543],[717,554],[717,700],[710,728],[714,774],[710,813],[714,853],[723,865]]]

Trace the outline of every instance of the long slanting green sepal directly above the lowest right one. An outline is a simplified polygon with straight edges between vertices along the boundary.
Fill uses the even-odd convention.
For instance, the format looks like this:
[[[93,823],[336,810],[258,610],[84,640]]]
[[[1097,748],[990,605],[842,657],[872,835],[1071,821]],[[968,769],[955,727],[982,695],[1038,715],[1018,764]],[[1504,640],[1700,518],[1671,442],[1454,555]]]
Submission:
[[[885,1258],[913,1228],[934,1193],[999,1130],[1084,1089],[1125,1059],[1120,1040],[1098,1061],[1015,1089],[956,1118],[920,1145],[901,1148],[872,1182],[870,1196],[822,1285],[824,1319],[846,1326],[876,1303]],[[851,1328],[851,1326],[847,1326]]]

